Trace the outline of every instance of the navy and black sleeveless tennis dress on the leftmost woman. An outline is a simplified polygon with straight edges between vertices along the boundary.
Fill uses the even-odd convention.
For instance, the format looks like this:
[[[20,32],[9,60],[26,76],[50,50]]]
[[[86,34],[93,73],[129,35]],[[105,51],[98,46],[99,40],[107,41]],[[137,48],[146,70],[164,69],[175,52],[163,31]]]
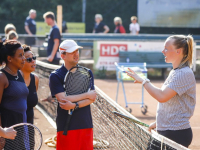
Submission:
[[[3,91],[0,104],[2,127],[27,122],[26,109],[29,91],[21,73],[18,71],[18,76],[13,76],[3,69],[1,71],[9,82],[9,86]]]

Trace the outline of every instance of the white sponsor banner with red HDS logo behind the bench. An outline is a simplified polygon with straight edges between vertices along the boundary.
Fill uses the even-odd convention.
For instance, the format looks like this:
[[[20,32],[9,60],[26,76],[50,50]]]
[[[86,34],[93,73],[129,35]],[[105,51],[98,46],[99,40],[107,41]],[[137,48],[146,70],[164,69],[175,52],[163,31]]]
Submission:
[[[94,69],[106,68],[114,71],[114,62],[119,62],[120,51],[161,52],[164,41],[95,41],[94,42]]]

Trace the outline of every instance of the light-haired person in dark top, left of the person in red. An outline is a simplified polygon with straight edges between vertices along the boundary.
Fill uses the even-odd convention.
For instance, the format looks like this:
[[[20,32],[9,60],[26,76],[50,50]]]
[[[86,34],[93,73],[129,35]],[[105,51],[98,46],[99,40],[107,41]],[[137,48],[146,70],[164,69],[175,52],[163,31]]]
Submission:
[[[96,14],[95,15],[95,25],[93,29],[93,33],[108,33],[109,32],[109,27],[102,22],[103,17],[101,14]]]

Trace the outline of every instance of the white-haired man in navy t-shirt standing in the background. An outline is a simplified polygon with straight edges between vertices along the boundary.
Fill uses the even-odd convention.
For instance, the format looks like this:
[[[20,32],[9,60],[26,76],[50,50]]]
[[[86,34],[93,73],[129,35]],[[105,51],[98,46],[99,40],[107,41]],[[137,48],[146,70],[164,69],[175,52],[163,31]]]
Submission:
[[[25,23],[24,23],[24,29],[26,34],[33,36],[36,34],[36,10],[31,9],[29,11],[29,16],[26,18]],[[28,45],[35,45],[35,37],[27,37],[25,39],[25,43]]]

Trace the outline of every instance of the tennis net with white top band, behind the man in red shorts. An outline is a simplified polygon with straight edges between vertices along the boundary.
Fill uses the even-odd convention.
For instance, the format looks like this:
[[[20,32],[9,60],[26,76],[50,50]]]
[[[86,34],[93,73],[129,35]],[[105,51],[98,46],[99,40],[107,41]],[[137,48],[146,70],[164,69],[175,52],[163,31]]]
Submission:
[[[38,97],[50,95],[49,75],[59,66],[37,61],[36,73],[40,78]],[[91,104],[94,132],[94,149],[104,150],[187,150],[187,148],[157,134],[149,133],[145,127],[114,115],[113,111],[135,118],[109,98],[97,86],[96,101]],[[57,102],[50,100],[38,105],[55,121]]]

